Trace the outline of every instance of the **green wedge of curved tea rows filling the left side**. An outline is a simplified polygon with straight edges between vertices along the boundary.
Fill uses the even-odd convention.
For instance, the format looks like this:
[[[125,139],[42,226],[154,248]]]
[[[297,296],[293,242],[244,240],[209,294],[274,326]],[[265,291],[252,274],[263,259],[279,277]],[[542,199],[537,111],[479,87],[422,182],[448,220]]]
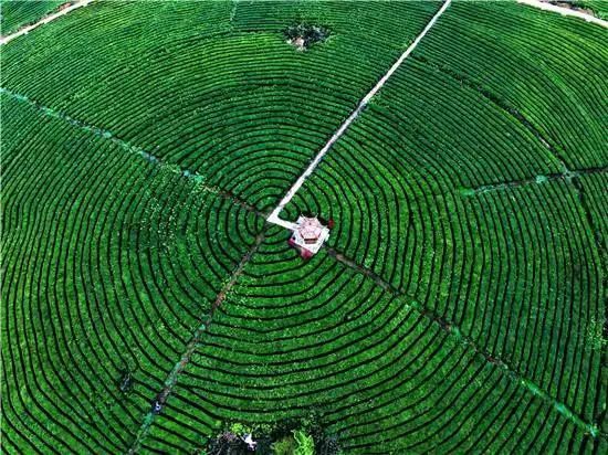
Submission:
[[[3,448],[122,452],[261,221],[6,94],[2,118]]]

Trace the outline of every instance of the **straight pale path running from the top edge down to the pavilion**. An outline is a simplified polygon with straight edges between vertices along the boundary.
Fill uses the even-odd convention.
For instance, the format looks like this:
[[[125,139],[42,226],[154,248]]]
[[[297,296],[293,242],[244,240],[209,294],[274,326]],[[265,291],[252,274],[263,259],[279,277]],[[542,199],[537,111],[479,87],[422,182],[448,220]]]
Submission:
[[[426,36],[429,30],[431,30],[431,28],[434,25],[434,23],[441,17],[441,14],[443,14],[443,12],[448,9],[451,2],[452,0],[444,1],[441,9],[432,17],[432,19],[429,21],[427,27],[424,27],[422,32],[416,38],[416,40],[413,40],[413,43],[411,43],[409,47],[406,49],[406,52],[401,54],[399,60],[395,62],[395,64],[387,71],[387,73],[380,78],[380,81],[378,81],[378,83],[374,86],[374,88],[371,88],[371,91],[369,91],[369,93],[365,95],[365,97],[357,105],[356,109],[353,110],[353,114],[350,114],[350,116],[339,126],[336,133],[334,133],[334,135],[329,138],[329,140],[325,144],[325,146],[321,149],[321,151],[316,155],[313,161],[308,165],[304,173],[300,176],[300,178],[295,181],[293,187],[290,188],[287,193],[283,197],[281,202],[279,202],[279,205],[276,205],[276,208],[271,212],[271,214],[268,218],[268,222],[277,224],[280,226],[283,226],[290,230],[293,229],[294,224],[289,221],[280,219],[279,214],[283,211],[285,205],[290,203],[292,198],[295,195],[297,190],[300,190],[302,184],[304,184],[306,179],[313,173],[313,171],[318,166],[318,163],[321,162],[325,154],[329,151],[332,146],[342,137],[342,135],[344,135],[344,133],[348,129],[350,124],[355,121],[355,119],[359,116],[363,109],[365,109],[365,107],[367,106],[369,100],[374,97],[374,95],[376,95],[376,93],[378,93],[378,91],[382,88],[382,86],[388,81],[388,78],[392,75],[392,73],[395,73],[399,66],[401,66],[401,63],[403,63],[403,61],[412,53],[416,46],[420,44],[420,41],[422,41],[422,39]]]

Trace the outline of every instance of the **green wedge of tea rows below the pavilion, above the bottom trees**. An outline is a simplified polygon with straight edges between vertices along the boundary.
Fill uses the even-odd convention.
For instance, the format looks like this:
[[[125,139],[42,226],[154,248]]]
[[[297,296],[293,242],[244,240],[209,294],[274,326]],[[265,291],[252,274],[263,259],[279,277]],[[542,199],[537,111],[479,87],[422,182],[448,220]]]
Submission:
[[[312,411],[348,453],[583,444],[584,431],[407,298],[323,253],[303,263],[274,232],[216,315],[147,449],[191,452],[220,421]]]

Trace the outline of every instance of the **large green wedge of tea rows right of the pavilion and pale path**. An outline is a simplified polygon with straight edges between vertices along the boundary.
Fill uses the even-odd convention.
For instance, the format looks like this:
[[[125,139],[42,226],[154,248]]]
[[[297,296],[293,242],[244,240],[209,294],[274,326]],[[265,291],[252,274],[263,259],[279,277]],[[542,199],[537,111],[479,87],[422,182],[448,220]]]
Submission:
[[[565,403],[580,422],[601,425],[605,346],[597,342],[597,334],[607,287],[605,253],[596,231],[602,231],[589,222],[580,190],[570,179],[602,178],[608,169],[598,134],[607,126],[602,96],[591,91],[580,102],[579,110],[589,109],[583,121],[590,131],[574,124],[556,130],[573,138],[589,133],[595,142],[567,138],[569,145],[564,146],[555,139],[562,136],[554,138],[553,131],[522,116],[537,98],[524,99],[525,104],[515,99],[509,107],[511,99],[505,102],[502,93],[485,86],[489,78],[509,80],[512,66],[488,68],[491,77],[482,84],[460,77],[449,64],[458,59],[460,66],[473,65],[467,60],[474,54],[473,46],[483,47],[490,36],[494,36],[491,42],[509,43],[510,30],[518,23],[525,23],[528,40],[541,34],[539,22],[526,18],[515,6],[504,4],[459,3],[448,10],[429,41],[415,52],[418,61],[398,70],[296,194],[284,218],[295,219],[300,212],[332,218],[337,225],[332,247],[441,315],[475,345]],[[491,33],[472,34],[467,52],[452,52],[461,42],[452,45],[453,34],[443,34],[445,23],[458,23],[461,31],[478,30],[491,20],[496,21]],[[457,33],[455,25],[452,32]],[[438,36],[444,38],[441,46]],[[596,36],[590,32],[585,41],[580,31],[578,40],[590,56],[578,52],[575,62],[600,59],[604,51]],[[429,43],[442,63],[427,57]],[[545,45],[536,49],[536,59],[544,59],[545,50],[547,59],[553,57],[554,51]],[[518,70],[514,71],[516,76]],[[573,81],[575,76],[563,89],[578,93]],[[563,102],[566,114],[577,108],[578,98],[570,104],[560,93],[545,96],[552,103]],[[546,103],[545,108],[554,112]],[[572,173],[576,165],[591,167]],[[548,181],[548,174],[562,177]],[[520,180],[536,183],[462,191]],[[605,191],[595,189],[595,198],[604,201]]]

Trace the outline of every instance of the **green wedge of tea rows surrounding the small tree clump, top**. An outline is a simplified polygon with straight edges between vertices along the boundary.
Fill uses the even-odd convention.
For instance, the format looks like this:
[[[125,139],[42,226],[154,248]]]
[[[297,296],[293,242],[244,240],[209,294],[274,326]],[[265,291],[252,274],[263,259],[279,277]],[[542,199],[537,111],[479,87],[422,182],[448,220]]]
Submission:
[[[7,45],[2,85],[264,209],[437,8],[103,2]],[[298,52],[294,21],[329,39]]]

